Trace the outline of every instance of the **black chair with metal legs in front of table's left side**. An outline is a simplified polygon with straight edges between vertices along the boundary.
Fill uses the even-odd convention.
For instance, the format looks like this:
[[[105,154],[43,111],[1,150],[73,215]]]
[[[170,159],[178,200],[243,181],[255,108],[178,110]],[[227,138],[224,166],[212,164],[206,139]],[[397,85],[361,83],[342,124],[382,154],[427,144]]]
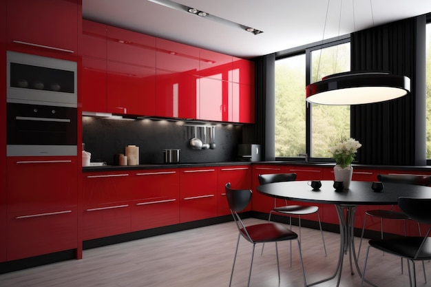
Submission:
[[[242,222],[240,211],[244,210],[251,200],[252,191],[250,189],[232,189],[231,183],[228,182],[225,186],[226,198],[231,210],[233,220],[238,228],[238,240],[236,243],[235,256],[233,257],[233,266],[231,271],[231,279],[229,286],[232,284],[233,270],[235,268],[236,256],[238,253],[238,246],[240,244],[240,237],[244,237],[248,242],[253,244],[253,250],[251,253],[251,264],[249,270],[249,281],[247,286],[250,286],[251,269],[253,268],[253,257],[255,253],[255,244],[264,242],[275,242],[275,251],[277,255],[277,268],[278,268],[278,282],[280,284],[280,260],[278,258],[278,246],[277,242],[296,240],[299,248],[299,259],[301,261],[302,274],[304,275],[304,286],[306,286],[306,277],[304,270],[304,263],[302,262],[301,243],[298,240],[297,233],[286,228],[283,224],[274,222],[265,222],[261,224],[254,224],[245,226]]]

